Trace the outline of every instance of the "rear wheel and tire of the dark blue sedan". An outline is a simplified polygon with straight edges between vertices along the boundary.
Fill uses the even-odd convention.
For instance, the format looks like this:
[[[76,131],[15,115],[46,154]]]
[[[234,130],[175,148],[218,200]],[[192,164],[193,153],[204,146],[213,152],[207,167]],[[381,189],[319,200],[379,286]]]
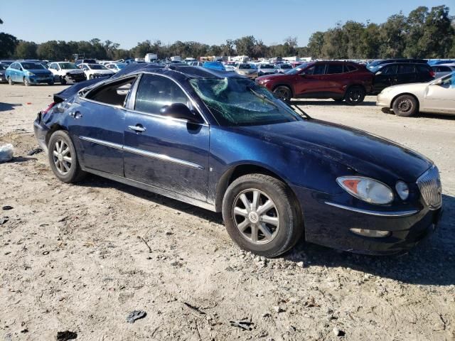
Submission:
[[[65,158],[69,158],[69,161]],[[50,136],[48,160],[55,176],[64,183],[76,183],[85,175],[80,168],[73,141],[66,131],[58,130]]]

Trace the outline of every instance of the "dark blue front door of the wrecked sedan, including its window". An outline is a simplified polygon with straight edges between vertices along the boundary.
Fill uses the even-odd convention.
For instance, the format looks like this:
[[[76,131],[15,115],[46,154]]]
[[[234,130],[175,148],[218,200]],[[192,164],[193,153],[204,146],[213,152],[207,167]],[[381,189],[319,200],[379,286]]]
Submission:
[[[192,107],[173,80],[141,76],[125,122],[125,177],[205,201],[210,129],[205,123],[162,116],[160,109],[173,103]]]

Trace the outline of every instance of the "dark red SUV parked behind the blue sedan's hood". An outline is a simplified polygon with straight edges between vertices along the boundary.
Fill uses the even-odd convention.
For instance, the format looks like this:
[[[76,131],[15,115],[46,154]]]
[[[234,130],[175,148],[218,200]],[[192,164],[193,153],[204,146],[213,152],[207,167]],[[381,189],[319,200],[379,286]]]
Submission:
[[[333,98],[355,105],[371,92],[373,73],[350,62],[315,62],[299,65],[284,75],[257,77],[256,82],[289,102],[291,98]]]

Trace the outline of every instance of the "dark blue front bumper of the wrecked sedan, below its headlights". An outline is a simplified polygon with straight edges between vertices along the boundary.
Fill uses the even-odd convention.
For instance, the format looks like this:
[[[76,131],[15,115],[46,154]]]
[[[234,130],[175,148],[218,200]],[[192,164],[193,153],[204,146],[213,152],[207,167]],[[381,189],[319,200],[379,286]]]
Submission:
[[[327,195],[293,188],[304,214],[305,239],[333,249],[387,255],[409,251],[437,228],[442,208],[429,210],[358,210],[330,205]],[[363,211],[363,212],[362,212]],[[350,229],[390,231],[382,238],[363,237]]]

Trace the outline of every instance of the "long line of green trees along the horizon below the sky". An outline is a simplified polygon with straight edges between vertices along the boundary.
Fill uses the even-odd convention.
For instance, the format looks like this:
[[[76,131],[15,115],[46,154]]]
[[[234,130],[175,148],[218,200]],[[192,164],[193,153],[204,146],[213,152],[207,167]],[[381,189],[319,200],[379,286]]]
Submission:
[[[145,40],[129,50],[119,46],[111,40],[102,42],[97,38],[34,43],[0,33],[0,58],[18,59],[71,60],[75,53],[107,60],[144,58],[146,53],[157,53],[159,58],[173,55],[182,58],[208,55],[248,55],[252,58],[298,55],[324,59],[455,58],[455,18],[449,15],[448,6],[432,9],[419,6],[408,16],[401,12],[392,15],[385,23],[338,23],[327,31],[313,33],[305,47],[298,47],[295,37],[285,38],[283,43],[265,45],[254,36],[228,39],[220,45],[180,40],[166,45],[161,40]]]

